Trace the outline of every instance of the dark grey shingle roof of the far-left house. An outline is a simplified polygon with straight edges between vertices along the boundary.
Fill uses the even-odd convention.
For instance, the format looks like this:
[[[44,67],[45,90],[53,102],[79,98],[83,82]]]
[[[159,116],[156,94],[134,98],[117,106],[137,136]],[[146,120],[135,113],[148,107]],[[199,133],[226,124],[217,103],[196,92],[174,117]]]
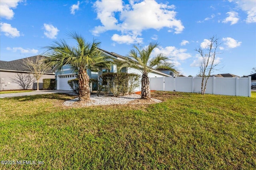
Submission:
[[[29,59],[32,61],[36,61],[37,57],[45,57],[42,55],[36,55],[24,59]],[[28,68],[25,67],[24,59],[18,59],[13,61],[0,61],[0,70],[6,70],[6,71],[16,71],[16,72],[30,72]],[[51,70],[46,71],[46,73],[52,73]]]

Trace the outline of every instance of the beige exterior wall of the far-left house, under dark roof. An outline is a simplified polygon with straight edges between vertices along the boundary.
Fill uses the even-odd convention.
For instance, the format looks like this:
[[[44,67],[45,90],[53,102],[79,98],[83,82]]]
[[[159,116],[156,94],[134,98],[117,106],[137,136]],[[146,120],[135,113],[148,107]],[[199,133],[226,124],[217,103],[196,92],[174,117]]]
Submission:
[[[12,79],[16,77],[17,72],[7,72],[7,71],[1,71],[0,72],[0,79],[1,79],[1,90],[20,90],[22,87],[15,83]],[[23,73],[28,74],[28,73]],[[39,80],[39,89],[43,88],[43,79],[44,78],[55,78],[55,75],[53,74],[44,74],[40,80]],[[4,80],[2,80],[4,79]],[[28,88],[28,89],[34,89],[37,88],[37,81],[35,80],[34,83]]]

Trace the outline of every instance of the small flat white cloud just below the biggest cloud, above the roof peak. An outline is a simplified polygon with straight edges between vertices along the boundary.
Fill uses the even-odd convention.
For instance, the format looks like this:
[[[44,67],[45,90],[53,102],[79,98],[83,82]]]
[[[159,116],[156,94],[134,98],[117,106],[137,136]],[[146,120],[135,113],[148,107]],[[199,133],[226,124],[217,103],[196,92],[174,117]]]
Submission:
[[[118,35],[114,34],[111,39],[116,41],[118,44],[134,44],[142,43],[143,38],[138,38],[137,36],[131,35]]]

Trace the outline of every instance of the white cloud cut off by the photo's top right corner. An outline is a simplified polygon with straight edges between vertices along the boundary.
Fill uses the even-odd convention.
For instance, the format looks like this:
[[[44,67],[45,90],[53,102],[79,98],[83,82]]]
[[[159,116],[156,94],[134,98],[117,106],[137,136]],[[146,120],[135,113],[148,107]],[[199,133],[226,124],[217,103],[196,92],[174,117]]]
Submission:
[[[238,8],[247,13],[246,22],[254,23],[256,22],[256,1],[255,0],[240,0],[233,1],[237,4]]]

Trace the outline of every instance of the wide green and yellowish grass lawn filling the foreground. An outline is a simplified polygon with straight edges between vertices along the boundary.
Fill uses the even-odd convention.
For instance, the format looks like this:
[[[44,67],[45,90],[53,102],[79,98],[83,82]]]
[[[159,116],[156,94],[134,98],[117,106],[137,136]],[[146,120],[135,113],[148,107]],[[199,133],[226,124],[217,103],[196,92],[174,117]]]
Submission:
[[[0,99],[0,159],[44,162],[0,169],[255,169],[255,92],[152,97],[164,102],[71,108],[65,94]]]

